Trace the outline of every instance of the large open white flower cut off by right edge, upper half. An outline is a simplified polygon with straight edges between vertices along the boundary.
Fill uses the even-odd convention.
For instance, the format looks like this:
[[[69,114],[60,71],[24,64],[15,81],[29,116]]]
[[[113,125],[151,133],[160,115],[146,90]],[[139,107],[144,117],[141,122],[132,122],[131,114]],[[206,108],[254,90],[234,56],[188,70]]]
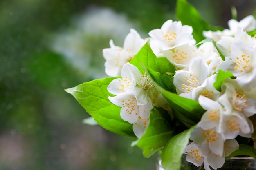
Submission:
[[[250,91],[256,86],[256,48],[250,48],[242,41],[234,42],[231,46],[231,59],[226,60],[217,68],[230,71],[245,90]]]

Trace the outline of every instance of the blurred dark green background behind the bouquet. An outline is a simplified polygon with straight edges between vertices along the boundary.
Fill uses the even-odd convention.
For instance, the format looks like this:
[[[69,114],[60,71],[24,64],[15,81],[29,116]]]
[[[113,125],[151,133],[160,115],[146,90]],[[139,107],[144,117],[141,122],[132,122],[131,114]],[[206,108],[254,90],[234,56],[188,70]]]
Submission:
[[[255,0],[189,0],[204,20],[227,27],[254,13]],[[175,20],[175,0],[1,0],[0,170],[155,170],[135,139],[99,126],[68,93],[105,77],[102,49],[122,46]],[[184,11],[186,12],[186,11]],[[188,16],[189,17],[189,16]]]

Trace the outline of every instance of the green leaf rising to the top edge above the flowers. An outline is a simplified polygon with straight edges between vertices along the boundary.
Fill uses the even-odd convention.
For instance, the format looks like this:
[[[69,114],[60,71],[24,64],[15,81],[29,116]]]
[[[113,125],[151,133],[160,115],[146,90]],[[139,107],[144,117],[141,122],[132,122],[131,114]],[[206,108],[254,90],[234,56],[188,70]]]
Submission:
[[[204,39],[203,31],[212,30],[207,22],[201,19],[198,11],[186,0],[177,0],[176,16],[182,22],[182,25],[189,25],[193,28],[193,37],[196,42]]]

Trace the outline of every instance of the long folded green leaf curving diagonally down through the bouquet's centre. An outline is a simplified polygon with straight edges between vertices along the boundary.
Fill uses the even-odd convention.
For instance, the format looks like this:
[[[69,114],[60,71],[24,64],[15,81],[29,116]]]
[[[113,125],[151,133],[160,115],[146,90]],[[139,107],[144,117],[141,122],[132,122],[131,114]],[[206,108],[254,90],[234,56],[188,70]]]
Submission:
[[[204,113],[204,109],[202,108],[202,106],[200,106],[199,102],[192,99],[180,97],[176,93],[167,91],[160,85],[158,77],[161,73],[152,71],[149,68],[147,71],[150,75],[151,81],[153,82],[157,90],[162,94],[162,96],[171,106],[175,117],[180,119],[182,123],[189,128],[197,124]]]

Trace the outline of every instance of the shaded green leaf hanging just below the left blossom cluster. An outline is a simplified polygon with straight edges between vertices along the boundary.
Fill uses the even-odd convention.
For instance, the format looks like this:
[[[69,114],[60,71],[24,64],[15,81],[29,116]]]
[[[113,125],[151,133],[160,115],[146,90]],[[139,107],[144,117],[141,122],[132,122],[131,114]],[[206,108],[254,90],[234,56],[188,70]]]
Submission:
[[[153,108],[150,112],[150,121],[146,132],[135,141],[136,145],[143,150],[144,157],[150,157],[174,135],[170,115],[166,110]]]

